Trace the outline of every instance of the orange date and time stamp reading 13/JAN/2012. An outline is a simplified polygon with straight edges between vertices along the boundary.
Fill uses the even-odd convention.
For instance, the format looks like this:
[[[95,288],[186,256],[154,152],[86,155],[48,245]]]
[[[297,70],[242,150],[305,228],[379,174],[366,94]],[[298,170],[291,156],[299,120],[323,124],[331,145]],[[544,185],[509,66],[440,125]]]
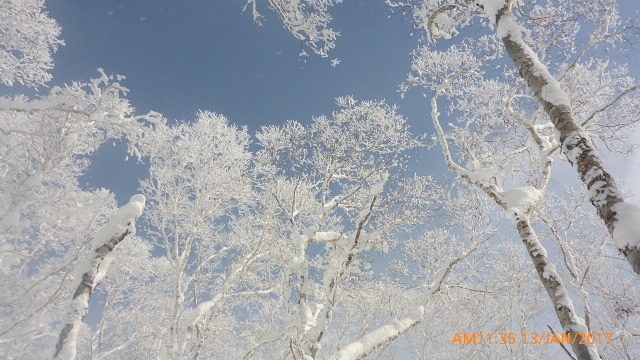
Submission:
[[[451,344],[608,344],[613,333],[456,333]]]

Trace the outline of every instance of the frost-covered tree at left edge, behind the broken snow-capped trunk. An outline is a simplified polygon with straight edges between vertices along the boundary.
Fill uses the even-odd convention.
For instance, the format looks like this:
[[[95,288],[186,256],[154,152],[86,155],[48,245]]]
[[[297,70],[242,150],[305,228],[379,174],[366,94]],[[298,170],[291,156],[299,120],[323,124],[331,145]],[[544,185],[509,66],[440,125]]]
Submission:
[[[74,268],[113,211],[111,194],[78,184],[90,154],[123,137],[138,153],[146,120],[157,120],[133,115],[125,93],[101,73],[39,99],[0,98],[0,337],[7,353],[38,354],[38,344],[55,341],[57,315],[76,290]]]

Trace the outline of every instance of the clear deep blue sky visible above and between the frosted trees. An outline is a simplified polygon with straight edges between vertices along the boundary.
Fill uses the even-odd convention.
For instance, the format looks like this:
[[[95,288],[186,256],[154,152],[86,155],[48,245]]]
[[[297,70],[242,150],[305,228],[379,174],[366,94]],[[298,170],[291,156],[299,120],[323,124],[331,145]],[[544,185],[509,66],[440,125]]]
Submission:
[[[342,34],[330,54],[342,61],[336,68],[328,59],[298,56],[304,45],[282,27],[266,1],[259,1],[263,26],[253,23],[250,12],[242,13],[245,3],[47,1],[66,41],[55,54],[51,84],[86,81],[101,67],[127,76],[123,83],[139,113],[155,110],[173,121],[212,110],[247,125],[251,133],[262,125],[330,113],[337,96],[387,99],[400,106],[416,133],[430,131],[428,102],[419,92],[405,99],[397,93],[418,39],[411,36],[410,22],[391,13],[383,0],[345,0],[333,9],[332,26]],[[621,3],[626,14],[638,8],[635,0]],[[637,63],[633,72],[640,74]],[[83,181],[112,190],[122,204],[146,176],[144,167],[125,163],[124,157],[123,146],[105,146]],[[434,152],[411,170],[447,172]]]

